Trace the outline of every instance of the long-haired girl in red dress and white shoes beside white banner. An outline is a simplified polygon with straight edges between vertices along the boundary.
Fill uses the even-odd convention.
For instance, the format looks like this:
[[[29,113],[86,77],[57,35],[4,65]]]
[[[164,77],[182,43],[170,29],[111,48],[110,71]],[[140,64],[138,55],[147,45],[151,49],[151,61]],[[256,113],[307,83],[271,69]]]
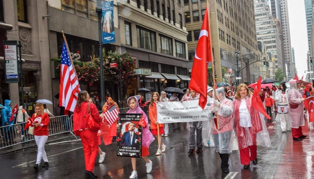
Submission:
[[[161,153],[165,152],[166,146],[162,143],[161,137],[161,134],[164,134],[163,124],[159,124],[157,121],[157,103],[159,102],[159,94],[158,92],[153,92],[152,96],[151,104],[149,105],[149,116],[151,119],[152,134],[159,138],[158,149],[156,152],[156,155],[159,156]],[[159,134],[157,128],[159,128]]]

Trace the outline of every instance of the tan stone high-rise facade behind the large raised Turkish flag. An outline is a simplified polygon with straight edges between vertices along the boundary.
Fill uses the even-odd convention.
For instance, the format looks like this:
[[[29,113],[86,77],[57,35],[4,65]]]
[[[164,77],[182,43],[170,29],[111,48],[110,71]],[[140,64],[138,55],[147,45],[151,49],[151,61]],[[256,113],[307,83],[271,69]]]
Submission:
[[[188,31],[188,60],[193,62],[201,29],[206,0],[184,0],[184,14]],[[260,52],[254,19],[254,1],[209,0],[211,43],[214,54],[217,83],[254,83],[259,77]],[[211,84],[211,63],[208,65],[208,83]],[[228,74],[228,70],[232,73]],[[234,77],[241,77],[236,80]]]

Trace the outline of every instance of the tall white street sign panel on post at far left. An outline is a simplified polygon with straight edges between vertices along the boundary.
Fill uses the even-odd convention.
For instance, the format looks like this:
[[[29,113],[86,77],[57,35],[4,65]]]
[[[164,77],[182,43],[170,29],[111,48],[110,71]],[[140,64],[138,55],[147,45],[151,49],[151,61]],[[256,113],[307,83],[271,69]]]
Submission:
[[[5,83],[18,83],[17,41],[3,41]]]

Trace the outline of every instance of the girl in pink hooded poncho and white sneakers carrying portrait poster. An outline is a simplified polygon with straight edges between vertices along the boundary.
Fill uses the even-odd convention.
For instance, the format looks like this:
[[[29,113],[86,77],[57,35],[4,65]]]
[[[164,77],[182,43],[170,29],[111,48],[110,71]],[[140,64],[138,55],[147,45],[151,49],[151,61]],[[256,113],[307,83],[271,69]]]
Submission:
[[[130,108],[127,111],[127,113],[142,113],[146,123],[148,124],[149,123],[148,118],[147,118],[145,112],[141,109],[141,107],[139,105],[139,101],[137,100],[137,98],[135,96],[131,96],[128,98],[127,102],[128,102],[129,108]],[[153,162],[150,161],[147,158],[147,156],[150,155],[149,147],[154,140],[155,140],[155,138],[154,138],[153,134],[151,133],[149,126],[146,125],[146,127],[143,127],[142,158],[146,162],[146,172],[148,174],[152,172]],[[138,177],[138,172],[136,170],[136,158],[131,158],[131,164],[132,164],[133,171],[131,173],[130,179],[135,179]]]

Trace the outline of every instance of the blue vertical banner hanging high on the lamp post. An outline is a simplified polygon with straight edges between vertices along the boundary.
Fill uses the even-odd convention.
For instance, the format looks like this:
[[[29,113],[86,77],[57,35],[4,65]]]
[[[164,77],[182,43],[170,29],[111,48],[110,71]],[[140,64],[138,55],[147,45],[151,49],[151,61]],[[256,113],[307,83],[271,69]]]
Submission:
[[[102,3],[103,44],[116,42],[113,1]]]

